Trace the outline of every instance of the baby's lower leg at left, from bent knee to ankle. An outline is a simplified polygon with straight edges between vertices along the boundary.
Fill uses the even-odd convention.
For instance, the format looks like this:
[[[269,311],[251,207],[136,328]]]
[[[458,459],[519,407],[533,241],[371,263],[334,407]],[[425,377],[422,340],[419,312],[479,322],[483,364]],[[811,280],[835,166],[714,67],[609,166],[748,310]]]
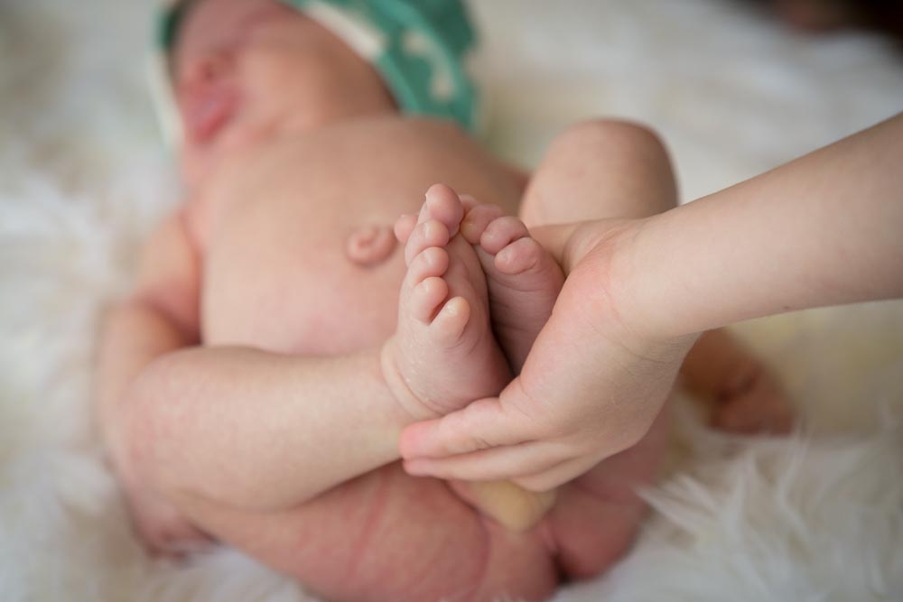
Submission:
[[[175,497],[289,507],[398,458],[410,421],[378,350],[292,357],[194,347],[148,366],[126,405],[135,464]]]

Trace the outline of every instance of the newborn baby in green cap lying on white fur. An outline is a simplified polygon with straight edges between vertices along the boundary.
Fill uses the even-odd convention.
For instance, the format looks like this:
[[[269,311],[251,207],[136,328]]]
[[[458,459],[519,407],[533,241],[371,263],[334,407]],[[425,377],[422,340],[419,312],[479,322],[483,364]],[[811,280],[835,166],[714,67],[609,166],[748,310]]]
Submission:
[[[665,419],[554,495],[410,477],[398,435],[519,371],[563,283],[526,226],[666,210],[673,176],[654,135],[591,122],[526,186],[462,131],[459,71],[431,104],[349,33],[377,6],[431,35],[442,15],[467,42],[455,2],[180,7],[188,198],[111,312],[100,423],[154,551],[226,542],[332,600],[545,599],[628,549]],[[768,375],[723,333],[685,376],[720,399],[722,426],[787,427]]]

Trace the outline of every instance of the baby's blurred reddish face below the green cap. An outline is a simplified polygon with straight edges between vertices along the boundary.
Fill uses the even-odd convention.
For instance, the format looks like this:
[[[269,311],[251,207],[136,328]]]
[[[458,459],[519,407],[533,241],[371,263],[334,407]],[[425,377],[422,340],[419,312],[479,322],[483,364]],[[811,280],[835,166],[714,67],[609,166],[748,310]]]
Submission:
[[[191,0],[184,10],[170,68],[190,185],[224,153],[396,111],[377,70],[301,12],[275,0]]]

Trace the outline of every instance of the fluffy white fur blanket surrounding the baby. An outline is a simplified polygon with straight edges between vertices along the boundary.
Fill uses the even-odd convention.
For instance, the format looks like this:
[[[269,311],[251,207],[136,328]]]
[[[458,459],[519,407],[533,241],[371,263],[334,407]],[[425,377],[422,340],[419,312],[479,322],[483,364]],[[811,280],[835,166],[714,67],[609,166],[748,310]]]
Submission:
[[[638,118],[674,151],[685,199],[903,98],[886,42],[807,38],[729,0],[486,0],[475,12],[495,148],[535,162],[577,118]],[[149,14],[147,0],[0,4],[0,599],[302,600],[234,551],[188,568],[146,559],[101,461],[99,317],[177,196],[144,86]],[[686,453],[648,492],[634,551],[555,599],[903,599],[903,306],[738,330],[783,376],[805,434],[731,439],[684,414]]]

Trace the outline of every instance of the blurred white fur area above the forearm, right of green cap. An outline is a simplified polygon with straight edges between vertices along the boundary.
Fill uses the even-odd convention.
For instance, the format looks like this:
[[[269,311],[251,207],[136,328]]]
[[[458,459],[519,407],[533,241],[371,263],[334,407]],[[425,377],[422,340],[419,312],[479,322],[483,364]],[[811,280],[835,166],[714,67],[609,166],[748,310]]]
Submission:
[[[653,125],[672,146],[683,199],[729,186],[903,107],[903,46],[834,17],[840,0],[473,3],[490,134],[535,162],[574,116]],[[900,3],[887,6],[899,19]],[[814,14],[804,19],[792,8]],[[852,14],[859,14],[852,12]],[[877,18],[877,17],[876,17]],[[811,21],[811,23],[810,23]],[[800,23],[802,22],[802,23]],[[891,22],[892,23],[892,22]],[[898,23],[898,21],[896,22]]]

